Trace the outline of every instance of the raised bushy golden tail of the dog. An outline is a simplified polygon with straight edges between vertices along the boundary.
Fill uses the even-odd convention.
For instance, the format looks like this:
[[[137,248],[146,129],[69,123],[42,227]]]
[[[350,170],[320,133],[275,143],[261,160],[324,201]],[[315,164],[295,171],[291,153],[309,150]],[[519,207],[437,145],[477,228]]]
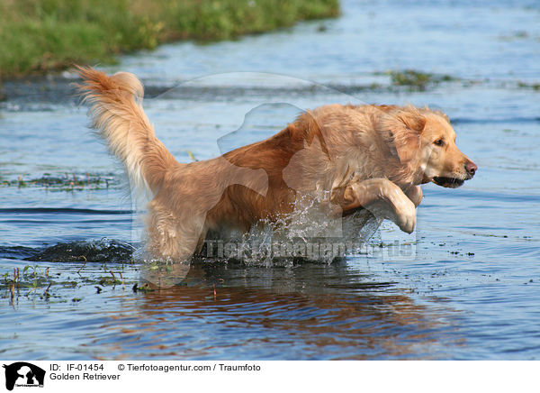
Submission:
[[[129,72],[107,76],[93,68],[78,68],[83,102],[91,104],[92,127],[109,151],[124,164],[132,186],[157,193],[168,169],[179,165],[160,142],[142,109],[144,90]]]

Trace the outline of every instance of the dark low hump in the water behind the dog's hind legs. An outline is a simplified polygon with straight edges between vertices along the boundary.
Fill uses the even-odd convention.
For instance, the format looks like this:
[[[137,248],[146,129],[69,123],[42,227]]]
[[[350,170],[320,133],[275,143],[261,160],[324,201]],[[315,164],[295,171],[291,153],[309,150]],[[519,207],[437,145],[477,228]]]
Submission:
[[[127,262],[135,248],[127,242],[102,239],[94,242],[61,242],[24,260],[50,262]]]

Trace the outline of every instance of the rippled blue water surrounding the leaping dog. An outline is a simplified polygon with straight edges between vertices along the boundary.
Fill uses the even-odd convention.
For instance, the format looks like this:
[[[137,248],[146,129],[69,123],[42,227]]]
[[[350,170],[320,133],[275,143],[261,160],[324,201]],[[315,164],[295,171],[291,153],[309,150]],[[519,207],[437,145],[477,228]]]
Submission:
[[[412,103],[449,114],[475,178],[455,190],[424,186],[416,232],[383,224],[364,254],[330,265],[198,263],[183,287],[141,291],[132,288],[139,265],[100,249],[138,246],[140,202],[67,85],[41,81],[0,110],[0,274],[4,282],[19,268],[28,284],[13,299],[2,287],[0,357],[540,358],[540,92],[523,86],[540,79],[538,5],[342,5],[336,20],[164,45],[108,70],[144,79],[148,117],[184,162],[187,150],[203,160],[274,133],[297,108]],[[455,80],[387,88],[389,69]],[[43,177],[65,187],[28,184]],[[102,255],[69,254],[80,242]],[[58,243],[71,259],[24,260]]]

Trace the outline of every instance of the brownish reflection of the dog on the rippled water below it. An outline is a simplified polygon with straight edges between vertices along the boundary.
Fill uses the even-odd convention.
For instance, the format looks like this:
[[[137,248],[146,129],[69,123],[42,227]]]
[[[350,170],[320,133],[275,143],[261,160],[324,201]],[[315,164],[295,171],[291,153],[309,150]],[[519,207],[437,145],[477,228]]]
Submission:
[[[457,340],[447,310],[345,263],[195,265],[185,282],[120,297],[91,345],[105,358],[426,359]]]

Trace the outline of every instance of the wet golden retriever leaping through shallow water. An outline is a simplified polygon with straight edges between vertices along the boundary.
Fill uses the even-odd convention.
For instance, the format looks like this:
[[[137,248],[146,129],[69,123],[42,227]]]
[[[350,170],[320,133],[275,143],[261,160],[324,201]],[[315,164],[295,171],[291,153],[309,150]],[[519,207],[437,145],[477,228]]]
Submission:
[[[286,222],[306,198],[333,217],[384,206],[383,218],[412,233],[420,184],[460,187],[477,170],[446,114],[412,105],[320,106],[265,141],[184,164],[157,139],[137,77],[78,72],[92,127],[152,195],[147,248],[157,259],[189,260],[212,232]]]

